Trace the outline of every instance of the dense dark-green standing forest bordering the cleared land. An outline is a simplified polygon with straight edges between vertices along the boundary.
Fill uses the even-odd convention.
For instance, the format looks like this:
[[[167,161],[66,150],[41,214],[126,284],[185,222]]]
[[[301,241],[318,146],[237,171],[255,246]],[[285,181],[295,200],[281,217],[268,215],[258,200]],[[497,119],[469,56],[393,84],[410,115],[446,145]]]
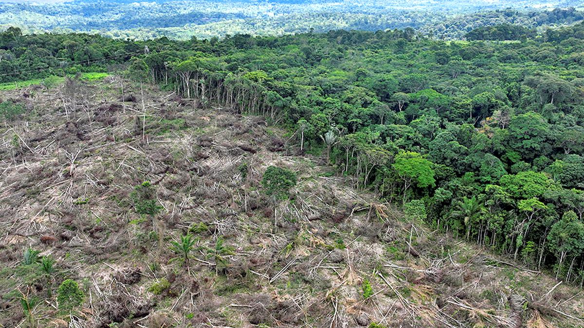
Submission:
[[[437,41],[406,29],[142,42],[9,29],[0,71],[5,82],[123,69],[265,116],[355,187],[582,285],[584,24],[530,37]]]

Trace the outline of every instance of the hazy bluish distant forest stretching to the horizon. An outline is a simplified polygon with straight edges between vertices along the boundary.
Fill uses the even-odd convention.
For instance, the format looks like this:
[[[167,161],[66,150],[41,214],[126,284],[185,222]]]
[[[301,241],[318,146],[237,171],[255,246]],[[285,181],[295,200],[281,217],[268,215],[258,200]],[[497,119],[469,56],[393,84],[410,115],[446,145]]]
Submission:
[[[492,2],[301,1],[0,1],[0,28],[26,33],[92,32],[126,39],[227,34],[281,35],[335,29],[376,31],[411,27],[426,36],[461,39],[473,29],[503,23],[529,29],[572,25],[583,19],[581,0]],[[578,9],[578,10],[577,10]]]

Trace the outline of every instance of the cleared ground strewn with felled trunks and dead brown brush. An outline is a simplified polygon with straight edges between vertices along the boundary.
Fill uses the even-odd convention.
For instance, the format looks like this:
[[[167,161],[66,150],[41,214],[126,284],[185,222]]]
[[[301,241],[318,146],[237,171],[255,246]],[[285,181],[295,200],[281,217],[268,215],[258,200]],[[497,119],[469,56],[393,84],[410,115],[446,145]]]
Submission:
[[[27,113],[0,127],[0,326],[26,325],[8,295],[27,285],[44,299],[39,326],[584,325],[578,291],[323,176],[261,118],[156,89],[142,113],[119,83],[2,95]],[[269,165],[300,178],[276,211],[260,185]],[[131,193],[145,181],[159,208],[140,215]],[[187,233],[182,266],[169,243]],[[75,318],[23,271],[29,246],[57,260],[55,284],[79,282]]]

